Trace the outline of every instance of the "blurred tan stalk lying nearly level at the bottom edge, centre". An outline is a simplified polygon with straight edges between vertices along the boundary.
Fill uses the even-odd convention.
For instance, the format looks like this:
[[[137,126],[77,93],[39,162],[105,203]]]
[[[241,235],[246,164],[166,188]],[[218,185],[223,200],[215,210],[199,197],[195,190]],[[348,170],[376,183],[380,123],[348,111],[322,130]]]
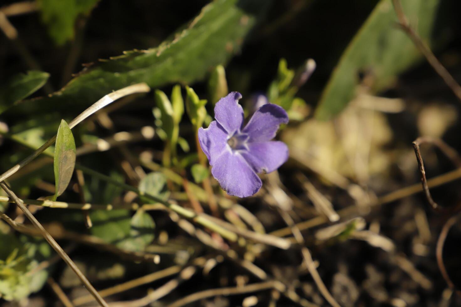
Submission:
[[[226,287],[218,289],[210,289],[205,291],[196,292],[191,295],[187,295],[180,300],[173,302],[168,305],[168,307],[182,307],[188,304],[191,304],[195,301],[203,300],[209,297],[218,296],[218,295],[237,295],[244,293],[251,293],[256,291],[262,291],[267,289],[282,288],[284,290],[285,286],[277,281],[265,281],[262,283],[248,284],[242,287]]]

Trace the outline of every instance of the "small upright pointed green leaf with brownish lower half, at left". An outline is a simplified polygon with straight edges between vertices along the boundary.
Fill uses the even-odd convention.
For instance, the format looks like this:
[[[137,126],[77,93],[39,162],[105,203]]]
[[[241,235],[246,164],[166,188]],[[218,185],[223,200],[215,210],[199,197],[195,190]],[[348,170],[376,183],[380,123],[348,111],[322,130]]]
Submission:
[[[76,157],[75,140],[71,128],[69,128],[65,120],[62,120],[58,128],[54,149],[54,184],[56,191],[53,200],[56,200],[71,182]]]

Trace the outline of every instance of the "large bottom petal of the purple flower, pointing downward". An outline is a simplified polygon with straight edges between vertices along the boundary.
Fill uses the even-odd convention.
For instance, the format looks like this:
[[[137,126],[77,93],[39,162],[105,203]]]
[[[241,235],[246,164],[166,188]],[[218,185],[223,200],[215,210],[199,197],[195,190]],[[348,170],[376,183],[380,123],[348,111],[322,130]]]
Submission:
[[[214,164],[211,174],[229,195],[248,197],[259,191],[262,182],[237,152],[225,151]]]

